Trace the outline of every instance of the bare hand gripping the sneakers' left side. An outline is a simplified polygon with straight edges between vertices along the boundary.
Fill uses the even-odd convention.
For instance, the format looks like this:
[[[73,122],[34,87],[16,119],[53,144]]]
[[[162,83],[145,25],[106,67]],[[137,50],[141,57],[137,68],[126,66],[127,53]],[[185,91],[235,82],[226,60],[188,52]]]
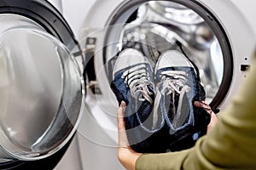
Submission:
[[[125,133],[125,122],[124,122],[124,113],[125,113],[125,102],[122,101],[119,110],[118,110],[118,130],[119,130],[119,150],[118,157],[120,163],[127,170],[134,170],[135,163],[138,156],[142,155],[135,152],[131,149],[130,144],[128,143],[127,135]]]

